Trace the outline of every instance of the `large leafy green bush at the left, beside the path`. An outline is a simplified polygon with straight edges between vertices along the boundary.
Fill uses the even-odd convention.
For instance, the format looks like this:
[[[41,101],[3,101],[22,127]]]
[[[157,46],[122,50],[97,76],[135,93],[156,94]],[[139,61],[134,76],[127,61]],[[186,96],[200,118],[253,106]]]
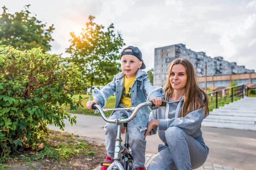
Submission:
[[[35,149],[47,137],[47,124],[63,130],[64,109],[81,105],[72,99],[86,84],[78,68],[61,55],[44,54],[40,48],[19,51],[0,46],[0,162],[18,147]]]

